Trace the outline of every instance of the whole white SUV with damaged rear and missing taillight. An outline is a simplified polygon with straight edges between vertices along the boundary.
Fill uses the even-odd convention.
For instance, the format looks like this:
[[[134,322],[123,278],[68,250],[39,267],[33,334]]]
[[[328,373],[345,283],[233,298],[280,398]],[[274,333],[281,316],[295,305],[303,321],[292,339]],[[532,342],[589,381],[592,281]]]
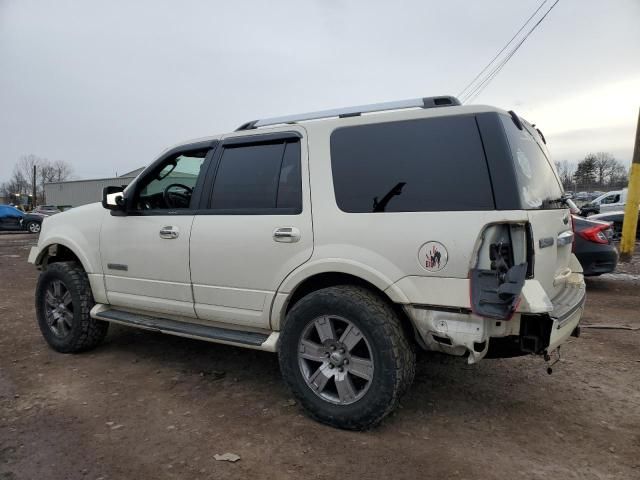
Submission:
[[[47,219],[29,261],[54,349],[116,322],[278,352],[311,416],[365,429],[411,384],[416,346],[475,363],[577,335],[572,240],[542,133],[431,97],[173,147]]]

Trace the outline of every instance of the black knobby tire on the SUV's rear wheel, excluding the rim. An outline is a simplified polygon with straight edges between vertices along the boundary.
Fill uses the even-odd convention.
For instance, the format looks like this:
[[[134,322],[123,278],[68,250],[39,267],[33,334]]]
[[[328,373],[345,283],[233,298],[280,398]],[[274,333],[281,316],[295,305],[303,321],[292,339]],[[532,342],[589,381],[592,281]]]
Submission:
[[[309,322],[323,315],[352,322],[365,336],[374,360],[368,390],[355,403],[334,404],[307,385],[298,362],[298,342]],[[367,430],[391,413],[415,374],[415,352],[398,315],[373,292],[354,285],[317,290],[287,314],[279,341],[280,370],[303,409],[312,418],[347,430]]]

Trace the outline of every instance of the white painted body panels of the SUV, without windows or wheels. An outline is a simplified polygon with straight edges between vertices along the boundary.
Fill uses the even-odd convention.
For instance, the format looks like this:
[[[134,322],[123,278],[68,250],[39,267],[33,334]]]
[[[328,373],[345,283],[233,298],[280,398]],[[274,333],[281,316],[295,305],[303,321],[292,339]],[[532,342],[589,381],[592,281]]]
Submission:
[[[456,113],[498,111],[454,107]],[[130,311],[239,330],[278,332],[296,287],[313,275],[346,273],[369,282],[401,304],[426,348],[462,355],[473,343],[517,334],[521,313],[545,313],[569,283],[584,288],[571,245],[541,249],[538,237],[556,238],[570,229],[563,210],[345,213],[336,205],[330,162],[330,136],[337,127],[451,115],[451,108],[415,109],[303,125],[234,132],[228,138],[292,131],[302,135],[303,211],[300,215],[113,216],[99,204],[58,214],[45,222],[29,261],[39,263],[47,248],[72,250],[89,274],[96,302]],[[496,222],[533,225],[535,278],[526,281],[516,315],[506,322],[468,313],[429,309],[469,309],[469,270],[476,262],[486,226]],[[165,226],[179,230],[167,240]],[[280,227],[300,232],[295,243],[274,241]],[[427,242],[448,251],[446,265],[427,271],[418,252]],[[126,264],[126,271],[108,268]],[[426,307],[425,307],[426,306]],[[557,346],[577,326],[580,309],[552,341]],[[444,323],[442,323],[444,321]],[[451,348],[434,344],[430,333],[446,335]],[[274,350],[270,337],[267,350]]]

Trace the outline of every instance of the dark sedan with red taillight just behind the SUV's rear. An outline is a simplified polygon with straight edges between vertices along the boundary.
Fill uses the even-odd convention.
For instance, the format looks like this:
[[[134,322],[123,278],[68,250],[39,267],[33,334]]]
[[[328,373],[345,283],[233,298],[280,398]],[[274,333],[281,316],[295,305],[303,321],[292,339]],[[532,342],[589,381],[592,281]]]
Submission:
[[[613,228],[602,222],[572,215],[575,243],[573,253],[580,261],[585,276],[613,272],[618,264],[618,251],[613,245]]]

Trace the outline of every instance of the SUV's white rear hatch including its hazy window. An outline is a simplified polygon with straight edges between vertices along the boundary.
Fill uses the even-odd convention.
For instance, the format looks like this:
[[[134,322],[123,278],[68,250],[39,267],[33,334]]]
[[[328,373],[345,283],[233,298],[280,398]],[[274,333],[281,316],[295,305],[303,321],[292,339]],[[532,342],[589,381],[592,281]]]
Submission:
[[[500,116],[509,140],[518,193],[527,210],[534,249],[534,278],[550,299],[563,291],[571,274],[573,241],[569,208],[543,136],[517,117]]]

